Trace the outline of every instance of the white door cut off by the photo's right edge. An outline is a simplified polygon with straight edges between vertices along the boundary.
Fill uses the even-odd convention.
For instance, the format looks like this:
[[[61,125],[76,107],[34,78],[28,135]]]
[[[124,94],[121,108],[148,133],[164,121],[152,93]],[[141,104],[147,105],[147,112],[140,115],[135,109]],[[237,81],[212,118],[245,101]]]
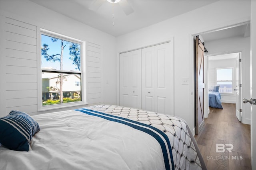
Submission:
[[[251,62],[250,62],[251,95],[256,99],[256,1],[251,1]],[[256,169],[256,105],[251,105],[251,154],[252,170]]]

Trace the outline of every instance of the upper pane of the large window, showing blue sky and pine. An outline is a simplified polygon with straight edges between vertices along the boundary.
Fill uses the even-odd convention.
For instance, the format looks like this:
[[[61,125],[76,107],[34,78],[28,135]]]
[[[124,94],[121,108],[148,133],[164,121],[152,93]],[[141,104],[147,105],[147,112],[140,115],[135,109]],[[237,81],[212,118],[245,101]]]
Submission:
[[[42,35],[41,41],[41,68],[80,71],[80,44],[47,35]],[[60,67],[61,54],[62,68]]]

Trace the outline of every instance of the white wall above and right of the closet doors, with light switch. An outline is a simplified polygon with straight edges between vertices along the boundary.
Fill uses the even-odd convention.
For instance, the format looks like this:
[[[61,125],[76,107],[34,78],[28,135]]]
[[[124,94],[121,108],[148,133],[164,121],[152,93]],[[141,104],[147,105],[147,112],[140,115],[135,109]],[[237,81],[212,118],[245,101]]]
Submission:
[[[192,35],[199,35],[205,31],[249,20],[250,1],[235,0],[230,2],[229,0],[220,0],[186,14],[117,37],[117,51],[128,51],[168,41],[170,37],[174,37],[174,113],[170,114],[182,117],[187,121],[189,127],[194,129]],[[118,57],[119,55],[117,55],[117,60]],[[189,79],[189,84],[182,85],[184,78]]]

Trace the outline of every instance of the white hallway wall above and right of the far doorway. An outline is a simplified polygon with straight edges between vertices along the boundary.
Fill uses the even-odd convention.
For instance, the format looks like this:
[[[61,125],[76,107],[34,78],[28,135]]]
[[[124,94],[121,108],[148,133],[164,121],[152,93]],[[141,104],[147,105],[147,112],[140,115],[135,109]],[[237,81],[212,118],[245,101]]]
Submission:
[[[208,56],[241,52],[242,99],[250,96],[250,37],[232,37],[205,43]],[[242,123],[250,124],[250,105],[242,104]]]

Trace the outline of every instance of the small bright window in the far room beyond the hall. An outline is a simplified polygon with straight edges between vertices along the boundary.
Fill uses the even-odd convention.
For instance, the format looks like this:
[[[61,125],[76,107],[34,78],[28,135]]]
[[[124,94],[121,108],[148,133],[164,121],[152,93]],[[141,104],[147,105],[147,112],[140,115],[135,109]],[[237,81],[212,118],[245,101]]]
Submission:
[[[220,93],[233,94],[233,68],[217,68],[217,85]]]

